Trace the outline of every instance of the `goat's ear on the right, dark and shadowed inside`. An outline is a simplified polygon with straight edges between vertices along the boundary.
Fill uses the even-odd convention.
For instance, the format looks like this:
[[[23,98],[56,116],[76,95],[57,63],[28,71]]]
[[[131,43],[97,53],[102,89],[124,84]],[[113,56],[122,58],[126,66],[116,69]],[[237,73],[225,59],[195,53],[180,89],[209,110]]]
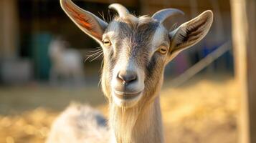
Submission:
[[[196,18],[181,24],[177,29],[171,31],[169,33],[171,55],[176,56],[180,51],[202,40],[212,25],[212,19],[212,11],[204,11]]]

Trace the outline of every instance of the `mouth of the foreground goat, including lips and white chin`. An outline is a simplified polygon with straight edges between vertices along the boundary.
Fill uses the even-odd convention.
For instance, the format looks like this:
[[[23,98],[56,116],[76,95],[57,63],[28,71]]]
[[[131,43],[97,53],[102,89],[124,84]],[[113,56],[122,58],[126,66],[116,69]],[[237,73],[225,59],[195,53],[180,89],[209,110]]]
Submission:
[[[133,107],[143,96],[143,90],[140,92],[119,92],[113,91],[113,100],[118,107]]]

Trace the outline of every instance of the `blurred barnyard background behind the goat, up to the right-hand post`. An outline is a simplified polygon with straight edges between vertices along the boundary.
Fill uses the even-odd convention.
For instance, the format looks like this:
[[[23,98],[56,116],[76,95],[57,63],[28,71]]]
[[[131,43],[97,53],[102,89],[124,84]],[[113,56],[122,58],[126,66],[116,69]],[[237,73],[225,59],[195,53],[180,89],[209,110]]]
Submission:
[[[181,9],[185,16],[170,19],[176,26],[211,9],[209,34],[166,66],[165,137],[177,143],[237,142],[241,95],[234,80],[232,2],[73,1],[106,21],[115,14],[108,10],[113,2],[136,16]],[[52,121],[70,102],[106,111],[99,86],[102,55],[95,51],[100,47],[72,23],[58,0],[1,0],[0,19],[0,142],[44,142]]]

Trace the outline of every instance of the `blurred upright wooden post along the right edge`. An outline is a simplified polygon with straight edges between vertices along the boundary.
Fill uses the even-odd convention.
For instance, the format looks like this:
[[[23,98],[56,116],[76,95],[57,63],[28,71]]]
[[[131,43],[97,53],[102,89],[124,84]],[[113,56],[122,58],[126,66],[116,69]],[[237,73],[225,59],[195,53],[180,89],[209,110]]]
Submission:
[[[256,142],[256,2],[230,0],[235,75],[241,90],[239,142]]]

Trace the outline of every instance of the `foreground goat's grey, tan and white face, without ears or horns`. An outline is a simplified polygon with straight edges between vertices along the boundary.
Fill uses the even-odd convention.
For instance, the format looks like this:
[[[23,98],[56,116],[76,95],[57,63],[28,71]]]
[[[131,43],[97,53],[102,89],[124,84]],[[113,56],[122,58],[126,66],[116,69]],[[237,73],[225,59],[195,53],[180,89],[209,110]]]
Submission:
[[[108,24],[103,51],[104,72],[110,76],[103,80],[110,83],[115,104],[132,107],[141,99],[152,98],[169,57],[168,34],[162,24],[148,16],[117,17]]]

